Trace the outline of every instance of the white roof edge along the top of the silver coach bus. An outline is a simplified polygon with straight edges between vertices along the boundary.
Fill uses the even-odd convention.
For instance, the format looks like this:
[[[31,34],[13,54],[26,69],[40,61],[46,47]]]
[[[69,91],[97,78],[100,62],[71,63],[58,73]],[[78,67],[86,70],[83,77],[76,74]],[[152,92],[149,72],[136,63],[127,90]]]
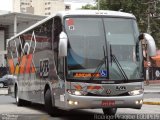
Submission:
[[[126,17],[126,18],[133,18],[136,19],[135,16],[133,14],[130,13],[125,13],[125,12],[120,12],[120,11],[110,11],[110,10],[74,10],[74,11],[60,11],[57,14],[53,14],[37,23],[35,23],[34,25],[28,27],[27,29],[23,30],[22,32],[16,34],[15,36],[12,36],[10,39],[7,40],[7,45],[8,42],[12,39],[15,39],[16,37],[18,37],[21,34],[24,34],[25,32],[33,29],[34,27],[37,27],[41,24],[43,24],[44,22],[50,20],[51,18],[55,17],[55,16],[59,16],[61,18],[63,18],[64,16],[110,16],[110,17]]]

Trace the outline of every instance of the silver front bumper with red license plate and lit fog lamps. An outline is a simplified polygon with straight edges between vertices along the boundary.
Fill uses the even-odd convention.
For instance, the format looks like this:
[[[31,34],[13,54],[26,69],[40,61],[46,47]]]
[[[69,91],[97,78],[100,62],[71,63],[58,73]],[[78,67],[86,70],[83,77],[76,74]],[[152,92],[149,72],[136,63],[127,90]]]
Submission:
[[[143,104],[143,94],[135,96],[76,96],[66,95],[67,109],[96,109],[96,108],[135,108]]]

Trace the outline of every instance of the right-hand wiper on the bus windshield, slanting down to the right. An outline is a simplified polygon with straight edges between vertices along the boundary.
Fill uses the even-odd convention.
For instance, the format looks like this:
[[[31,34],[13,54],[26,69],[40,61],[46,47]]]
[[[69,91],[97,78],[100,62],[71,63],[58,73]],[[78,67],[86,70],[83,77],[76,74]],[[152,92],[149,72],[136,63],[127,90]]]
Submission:
[[[124,72],[121,64],[120,64],[119,61],[118,61],[118,59],[116,58],[116,56],[115,56],[114,54],[112,54],[112,46],[111,46],[111,45],[110,45],[110,57],[111,57],[111,65],[112,65],[112,60],[113,60],[113,62],[116,63],[118,69],[120,70],[123,78],[124,78],[125,80],[128,80],[128,77],[127,77],[126,73]]]

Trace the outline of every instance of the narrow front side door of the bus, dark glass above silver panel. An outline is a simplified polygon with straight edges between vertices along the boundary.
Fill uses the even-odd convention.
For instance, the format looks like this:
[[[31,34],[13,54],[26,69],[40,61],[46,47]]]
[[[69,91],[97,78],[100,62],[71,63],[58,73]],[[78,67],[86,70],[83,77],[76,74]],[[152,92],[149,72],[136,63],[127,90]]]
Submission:
[[[54,51],[54,60],[55,66],[57,70],[57,81],[58,86],[55,89],[55,104],[64,107],[64,94],[65,94],[65,76],[64,76],[64,57],[58,56],[58,43],[59,43],[59,35],[62,31],[61,19],[59,17],[54,18],[54,31],[53,31],[53,51]]]

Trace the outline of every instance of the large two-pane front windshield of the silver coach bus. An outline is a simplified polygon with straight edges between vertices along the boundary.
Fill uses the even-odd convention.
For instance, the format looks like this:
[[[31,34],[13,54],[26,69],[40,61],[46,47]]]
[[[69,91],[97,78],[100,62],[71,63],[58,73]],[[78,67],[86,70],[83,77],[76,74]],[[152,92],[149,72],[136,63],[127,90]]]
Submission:
[[[68,79],[88,80],[94,76],[94,80],[123,80],[111,54],[128,80],[142,79],[141,49],[136,50],[139,33],[134,19],[69,17],[65,19],[65,30],[69,40]]]

